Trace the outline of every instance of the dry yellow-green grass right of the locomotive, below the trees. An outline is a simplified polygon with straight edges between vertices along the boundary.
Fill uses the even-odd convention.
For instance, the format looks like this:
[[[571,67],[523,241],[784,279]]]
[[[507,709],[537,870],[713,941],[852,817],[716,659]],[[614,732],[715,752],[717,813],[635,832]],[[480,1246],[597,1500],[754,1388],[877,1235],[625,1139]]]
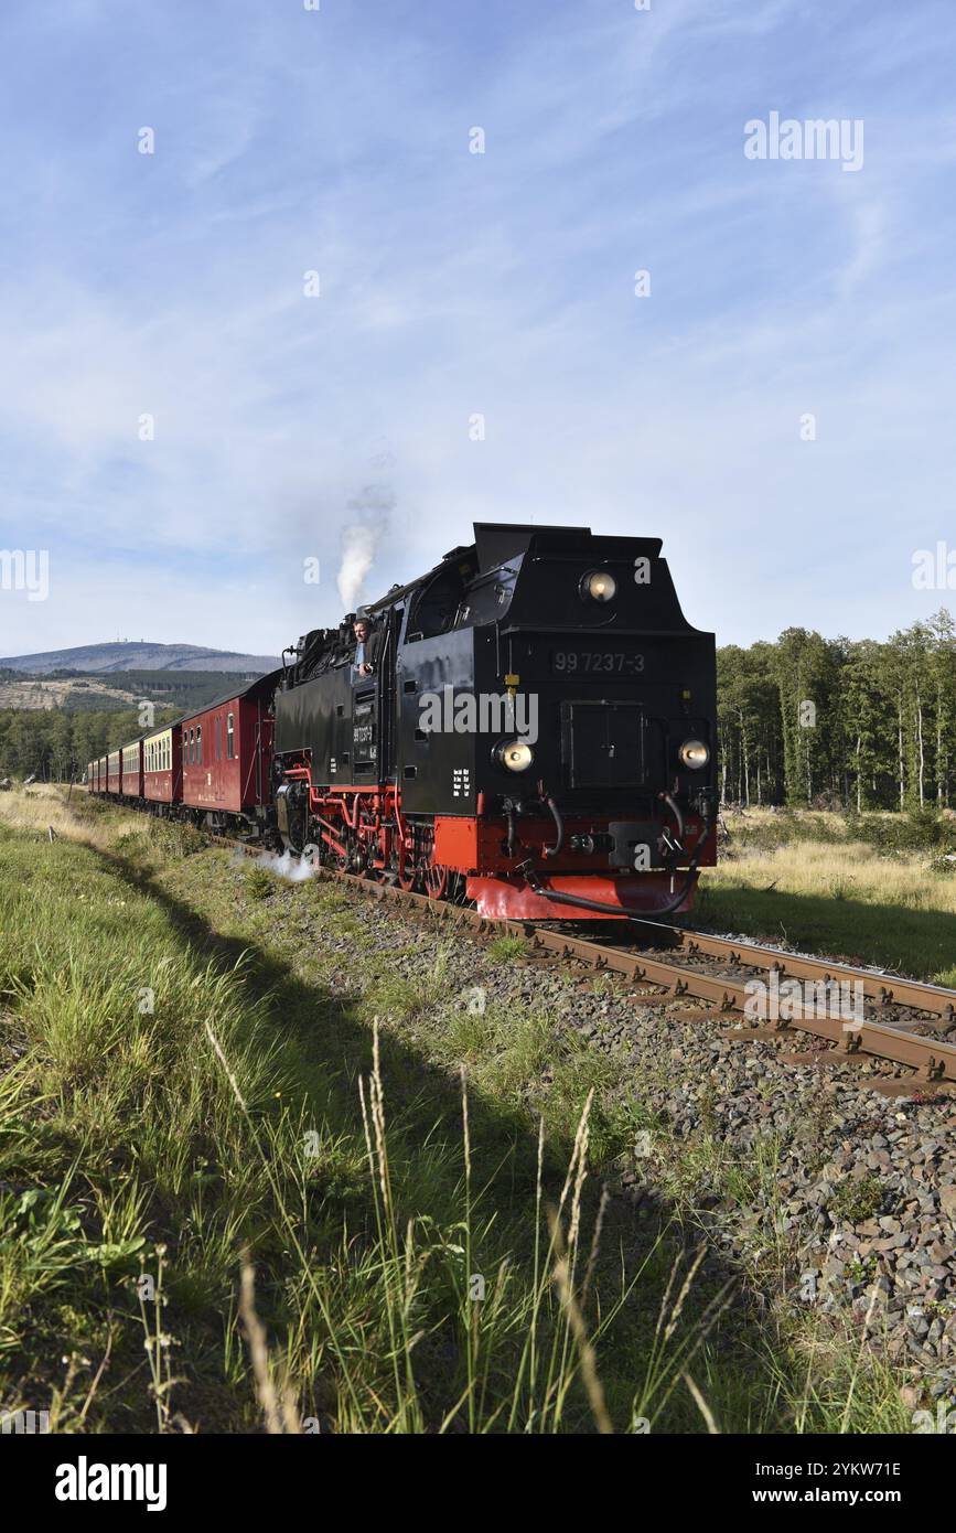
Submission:
[[[734,931],[956,986],[956,820],[771,814],[728,822],[699,917]]]

